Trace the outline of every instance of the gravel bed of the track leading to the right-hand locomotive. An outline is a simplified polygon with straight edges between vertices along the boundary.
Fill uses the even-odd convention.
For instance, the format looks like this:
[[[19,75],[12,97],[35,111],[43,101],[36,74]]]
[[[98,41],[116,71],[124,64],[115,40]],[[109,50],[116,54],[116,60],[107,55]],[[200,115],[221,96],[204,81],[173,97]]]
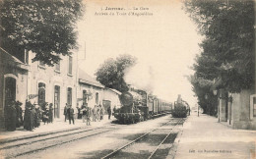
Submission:
[[[151,153],[154,152],[155,149],[160,145],[161,141],[166,137],[166,135],[169,132],[172,132],[172,129],[174,129],[173,126],[179,127],[183,125],[184,121],[185,120],[182,119],[171,119],[169,122],[166,122],[160,126],[164,127],[164,129],[159,128],[154,132],[150,132],[145,137],[115,153],[111,159],[125,158],[126,156],[129,156],[131,159],[148,158]],[[170,133],[169,136],[160,145],[159,149],[152,156],[152,158],[164,158],[164,156],[168,154],[168,151],[171,148],[171,143],[173,143],[176,136],[177,133]]]

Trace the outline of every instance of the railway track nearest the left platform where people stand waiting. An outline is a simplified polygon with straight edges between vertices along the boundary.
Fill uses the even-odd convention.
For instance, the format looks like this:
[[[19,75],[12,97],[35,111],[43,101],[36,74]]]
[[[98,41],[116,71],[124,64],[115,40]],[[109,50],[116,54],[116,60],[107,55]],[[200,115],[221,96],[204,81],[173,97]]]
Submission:
[[[79,129],[68,132],[56,132],[38,137],[9,141],[0,145],[0,153],[3,157],[15,158],[116,129],[118,128],[105,126],[91,130]]]

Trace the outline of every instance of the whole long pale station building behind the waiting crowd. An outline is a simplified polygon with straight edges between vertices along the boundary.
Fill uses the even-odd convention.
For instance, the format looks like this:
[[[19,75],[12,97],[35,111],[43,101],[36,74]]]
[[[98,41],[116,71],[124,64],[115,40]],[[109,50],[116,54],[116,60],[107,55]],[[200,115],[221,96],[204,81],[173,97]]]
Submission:
[[[34,56],[31,51],[16,50],[9,54],[0,48],[0,129],[4,128],[4,108],[11,100],[22,102],[23,110],[26,99],[32,104],[52,103],[55,120],[64,119],[66,103],[73,108],[83,103],[92,108],[99,104],[104,108],[120,106],[121,93],[78,69],[76,53],[61,56],[62,60],[53,67],[32,62]]]

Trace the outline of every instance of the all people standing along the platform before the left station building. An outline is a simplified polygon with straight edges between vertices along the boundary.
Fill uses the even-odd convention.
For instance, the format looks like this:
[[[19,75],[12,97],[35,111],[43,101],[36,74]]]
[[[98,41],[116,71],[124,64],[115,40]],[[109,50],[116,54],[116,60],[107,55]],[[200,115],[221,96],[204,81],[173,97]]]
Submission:
[[[11,101],[5,107],[5,128],[7,131],[16,131],[17,128],[24,127],[27,131],[32,131],[40,127],[41,122],[45,124],[53,123],[53,106],[52,103],[43,103],[41,106],[31,103],[30,100],[26,101],[25,111],[22,109],[22,104],[19,101]],[[115,109],[115,108],[114,108]],[[107,107],[106,110],[108,119],[111,117],[111,108]],[[88,103],[83,103],[81,107],[77,105],[74,109],[72,105],[66,103],[64,107],[65,122],[68,120],[69,124],[75,125],[75,119],[82,119],[83,123],[88,126],[91,122],[99,122],[103,120],[104,108],[100,104],[91,108]]]

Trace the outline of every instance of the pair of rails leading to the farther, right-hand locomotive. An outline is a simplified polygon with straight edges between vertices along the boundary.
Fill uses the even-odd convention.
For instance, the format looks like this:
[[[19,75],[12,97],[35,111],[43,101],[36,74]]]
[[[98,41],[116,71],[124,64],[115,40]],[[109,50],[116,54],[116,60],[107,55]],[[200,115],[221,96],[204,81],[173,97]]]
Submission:
[[[171,123],[171,122],[173,122],[173,120],[170,120],[170,121],[168,121],[168,122],[162,124],[160,127],[165,126],[166,124]],[[132,141],[130,141],[130,142],[124,144],[123,146],[121,146],[121,147],[119,147],[119,148],[113,150],[112,152],[106,154],[105,156],[101,157],[101,159],[119,158],[120,156],[116,157],[116,156],[118,155],[118,153],[120,153],[122,150],[128,148],[128,147],[131,146],[131,145],[134,146],[137,142],[140,142],[140,140],[142,140],[143,138],[145,138],[145,137],[148,136],[148,135],[151,135],[153,132],[162,131],[162,130],[167,130],[167,131],[169,131],[169,132],[165,135],[165,137],[160,141],[160,143],[156,146],[156,148],[155,148],[154,150],[152,150],[152,152],[148,155],[148,157],[146,157],[146,158],[148,158],[148,159],[151,159],[151,158],[153,158],[153,157],[155,156],[156,152],[160,149],[160,145],[162,145],[162,143],[168,138],[168,136],[173,132],[173,130],[175,129],[175,127],[176,127],[177,125],[181,124],[182,122],[184,122],[184,119],[178,120],[178,121],[174,124],[174,126],[173,126],[171,129],[160,129],[160,128],[158,128],[158,129],[154,129],[154,130],[152,130],[152,131],[150,131],[150,132],[146,132],[146,133],[144,133],[143,135],[137,137],[136,139],[134,139],[134,140],[132,140]],[[182,123],[182,124],[183,124],[183,123]],[[131,156],[130,156],[130,157],[131,157]],[[138,157],[138,156],[136,156],[136,157]],[[134,158],[136,158],[136,157],[134,157]],[[132,158],[132,157],[131,157],[131,158]],[[145,158],[145,156],[143,156],[143,158]]]

